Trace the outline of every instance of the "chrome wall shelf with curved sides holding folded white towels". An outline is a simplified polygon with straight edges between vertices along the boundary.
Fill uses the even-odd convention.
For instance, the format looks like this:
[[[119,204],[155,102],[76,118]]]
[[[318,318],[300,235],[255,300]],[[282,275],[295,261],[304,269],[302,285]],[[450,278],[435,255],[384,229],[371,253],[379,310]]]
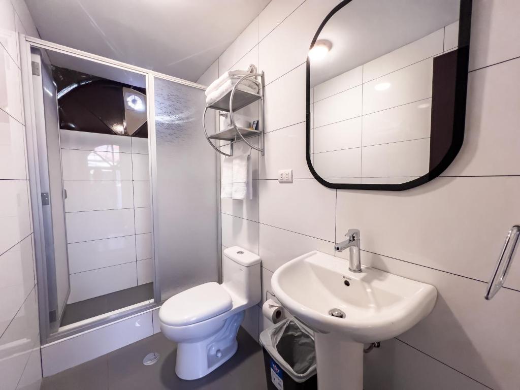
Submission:
[[[204,135],[207,141],[210,143],[211,147],[215,149],[220,154],[223,154],[227,157],[231,157],[233,155],[233,144],[237,141],[244,141],[246,145],[251,147],[252,149],[258,150],[264,155],[264,89],[265,89],[265,79],[264,72],[258,73],[256,71],[256,67],[254,65],[250,66],[250,69],[253,70],[252,73],[246,74],[240,78],[240,80],[233,86],[233,88],[222,98],[215,101],[209,106],[206,106],[204,109],[204,113],[202,114],[202,127],[204,129]],[[258,85],[258,93],[246,92],[242,89],[238,89],[240,83],[242,83],[246,79],[251,79]],[[258,130],[253,128],[240,127],[235,122],[235,118],[233,116],[234,111],[238,111],[255,101],[260,101],[260,120],[258,121]],[[208,109],[218,110],[218,111],[226,111],[229,112],[229,119],[231,121],[231,128],[226,129],[222,132],[217,132],[215,134],[208,135],[206,126],[204,123],[206,112]],[[246,138],[251,138],[259,136],[258,147],[252,145]],[[228,141],[224,145],[217,146],[213,143],[213,141]],[[220,148],[224,146],[228,146],[230,148],[230,152],[225,153]]]

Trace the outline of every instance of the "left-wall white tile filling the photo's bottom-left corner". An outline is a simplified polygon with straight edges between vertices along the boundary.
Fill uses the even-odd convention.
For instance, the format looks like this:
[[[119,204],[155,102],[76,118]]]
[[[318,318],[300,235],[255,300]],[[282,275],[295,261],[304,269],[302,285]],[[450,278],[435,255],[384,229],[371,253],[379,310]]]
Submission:
[[[14,389],[38,343],[38,305],[35,289],[0,337],[0,378],[2,388]]]

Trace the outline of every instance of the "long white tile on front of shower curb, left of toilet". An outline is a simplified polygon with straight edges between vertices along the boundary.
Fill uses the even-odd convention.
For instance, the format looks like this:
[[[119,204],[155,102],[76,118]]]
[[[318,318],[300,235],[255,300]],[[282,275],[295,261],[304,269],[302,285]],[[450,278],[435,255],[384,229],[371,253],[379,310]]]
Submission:
[[[45,345],[43,375],[50,376],[152,335],[151,311]]]

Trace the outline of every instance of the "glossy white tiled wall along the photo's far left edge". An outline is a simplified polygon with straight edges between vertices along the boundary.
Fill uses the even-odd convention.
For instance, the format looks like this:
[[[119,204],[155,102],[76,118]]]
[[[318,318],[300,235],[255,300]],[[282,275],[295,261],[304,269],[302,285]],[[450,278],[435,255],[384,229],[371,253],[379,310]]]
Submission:
[[[18,32],[25,3],[0,0],[0,388],[37,389],[42,369]]]

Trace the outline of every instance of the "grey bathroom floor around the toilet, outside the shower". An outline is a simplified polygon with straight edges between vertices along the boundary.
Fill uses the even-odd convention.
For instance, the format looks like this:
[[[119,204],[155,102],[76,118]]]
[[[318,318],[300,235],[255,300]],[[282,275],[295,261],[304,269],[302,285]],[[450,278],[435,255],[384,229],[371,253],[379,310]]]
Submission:
[[[175,375],[177,345],[162,333],[43,379],[41,390],[267,390],[261,346],[244,329],[238,350],[222,366],[195,381]],[[159,360],[142,364],[150,352]]]

